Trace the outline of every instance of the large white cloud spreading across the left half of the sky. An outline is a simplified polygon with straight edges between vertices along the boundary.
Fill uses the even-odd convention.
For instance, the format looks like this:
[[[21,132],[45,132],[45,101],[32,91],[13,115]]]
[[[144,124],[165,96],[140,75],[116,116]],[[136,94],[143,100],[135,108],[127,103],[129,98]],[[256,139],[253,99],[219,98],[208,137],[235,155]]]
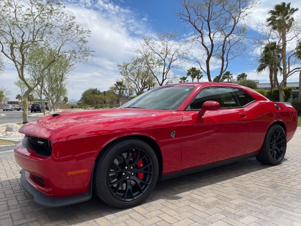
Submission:
[[[121,78],[116,64],[129,61],[134,56],[142,41],[140,34],[146,31],[143,23],[136,20],[129,10],[109,1],[70,0],[64,3],[66,12],[75,16],[82,28],[91,31],[87,45],[95,51],[92,62],[77,64],[69,77],[72,89],[68,97],[78,100],[84,90],[93,87],[104,91]],[[16,80],[16,68],[12,66],[0,78],[1,85],[12,87],[11,99],[20,93],[13,85]]]

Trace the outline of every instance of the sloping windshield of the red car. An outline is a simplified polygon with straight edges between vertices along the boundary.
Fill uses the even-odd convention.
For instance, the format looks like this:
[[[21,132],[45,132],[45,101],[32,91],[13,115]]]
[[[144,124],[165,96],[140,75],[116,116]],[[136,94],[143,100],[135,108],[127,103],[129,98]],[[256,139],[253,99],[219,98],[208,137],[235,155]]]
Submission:
[[[120,108],[177,110],[194,86],[166,86],[149,90],[133,98]]]

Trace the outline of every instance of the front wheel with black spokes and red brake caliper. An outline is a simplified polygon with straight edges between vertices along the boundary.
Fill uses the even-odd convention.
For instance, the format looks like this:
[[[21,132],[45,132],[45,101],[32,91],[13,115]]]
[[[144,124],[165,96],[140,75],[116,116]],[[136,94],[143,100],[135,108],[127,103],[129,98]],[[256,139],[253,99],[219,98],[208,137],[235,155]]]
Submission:
[[[105,203],[128,208],[142,203],[156,186],[159,163],[138,139],[124,139],[102,150],[94,170],[94,193]]]

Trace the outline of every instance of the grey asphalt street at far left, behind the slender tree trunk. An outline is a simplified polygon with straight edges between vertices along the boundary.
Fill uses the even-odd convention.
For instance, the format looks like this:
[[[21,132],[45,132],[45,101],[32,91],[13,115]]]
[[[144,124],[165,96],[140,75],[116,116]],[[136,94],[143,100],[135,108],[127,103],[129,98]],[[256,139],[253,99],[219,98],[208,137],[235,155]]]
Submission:
[[[23,119],[22,119],[22,114],[23,111],[17,111],[17,110],[13,110],[13,111],[3,111],[1,109],[0,111],[0,125],[1,124],[5,124],[5,123],[22,123]],[[30,112],[28,111],[28,121],[34,121],[36,119],[41,118],[42,116],[34,116],[37,115],[38,112]]]

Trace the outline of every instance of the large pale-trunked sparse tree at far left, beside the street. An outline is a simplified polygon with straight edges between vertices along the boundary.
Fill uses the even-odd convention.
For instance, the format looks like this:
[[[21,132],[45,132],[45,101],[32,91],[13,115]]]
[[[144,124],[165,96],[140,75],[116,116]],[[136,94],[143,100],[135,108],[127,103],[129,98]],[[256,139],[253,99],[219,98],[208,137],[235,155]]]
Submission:
[[[24,4],[24,5],[22,5]],[[27,97],[40,83],[41,76],[62,54],[73,56],[78,61],[87,60],[90,54],[85,47],[90,31],[75,23],[75,17],[67,15],[61,1],[57,0],[3,0],[0,4],[1,52],[13,62],[19,78],[26,84],[24,108]],[[27,55],[31,49],[49,48],[55,54],[41,67],[35,83],[26,77],[26,67],[35,63]],[[47,51],[45,51],[47,53]],[[23,111],[23,123],[28,122],[28,112]]]

